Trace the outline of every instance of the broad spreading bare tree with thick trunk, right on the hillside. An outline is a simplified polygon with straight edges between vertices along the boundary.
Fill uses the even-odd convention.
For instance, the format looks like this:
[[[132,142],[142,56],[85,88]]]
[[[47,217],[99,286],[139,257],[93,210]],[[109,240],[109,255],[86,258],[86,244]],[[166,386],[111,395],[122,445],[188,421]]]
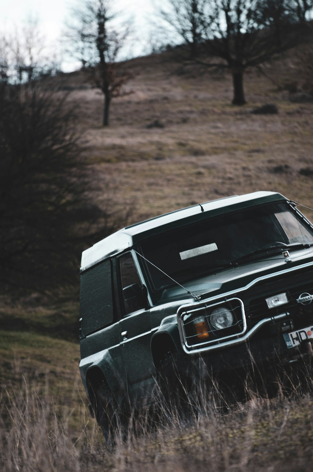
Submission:
[[[312,0],[168,0],[163,19],[190,46],[191,57],[207,67],[227,68],[233,104],[245,103],[243,76],[304,39],[296,7]],[[304,5],[305,3],[305,5]],[[300,15],[300,14],[299,14]],[[219,60],[216,61],[215,58]],[[221,59],[221,60],[220,60]]]

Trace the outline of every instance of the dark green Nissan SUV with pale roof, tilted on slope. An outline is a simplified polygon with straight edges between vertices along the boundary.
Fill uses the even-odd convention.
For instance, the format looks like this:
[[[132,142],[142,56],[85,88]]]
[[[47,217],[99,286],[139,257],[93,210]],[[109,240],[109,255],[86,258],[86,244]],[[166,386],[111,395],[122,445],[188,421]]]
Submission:
[[[281,194],[235,195],[117,231],[81,259],[91,413],[106,434],[110,415],[151,404],[167,379],[173,396],[199,379],[235,392],[259,372],[259,390],[275,395],[277,372],[290,379],[312,357],[312,300],[313,225]]]

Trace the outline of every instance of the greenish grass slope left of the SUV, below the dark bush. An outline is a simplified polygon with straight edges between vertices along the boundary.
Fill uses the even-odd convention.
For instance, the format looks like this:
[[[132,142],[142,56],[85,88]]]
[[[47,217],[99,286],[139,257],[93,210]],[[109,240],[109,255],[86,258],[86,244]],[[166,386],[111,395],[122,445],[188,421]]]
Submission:
[[[21,406],[28,390],[36,392],[43,402],[54,404],[75,438],[81,433],[80,409],[85,409],[78,372],[78,304],[42,304],[38,298],[37,304],[1,303],[0,413],[7,427],[8,405]]]

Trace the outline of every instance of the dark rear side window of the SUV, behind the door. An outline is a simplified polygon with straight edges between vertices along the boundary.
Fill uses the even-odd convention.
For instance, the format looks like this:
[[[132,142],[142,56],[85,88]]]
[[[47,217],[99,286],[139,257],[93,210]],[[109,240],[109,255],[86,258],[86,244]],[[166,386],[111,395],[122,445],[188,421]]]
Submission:
[[[109,260],[80,276],[80,316],[85,336],[113,322],[111,262]]]

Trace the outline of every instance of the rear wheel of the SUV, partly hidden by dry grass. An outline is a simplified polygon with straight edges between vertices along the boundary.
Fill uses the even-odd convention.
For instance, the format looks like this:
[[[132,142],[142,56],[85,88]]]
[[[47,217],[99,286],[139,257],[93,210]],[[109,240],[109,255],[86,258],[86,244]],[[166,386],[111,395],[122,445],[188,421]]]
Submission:
[[[104,441],[113,446],[116,438],[121,437],[123,433],[122,413],[105,381],[94,388],[93,392],[96,420],[101,427]]]

